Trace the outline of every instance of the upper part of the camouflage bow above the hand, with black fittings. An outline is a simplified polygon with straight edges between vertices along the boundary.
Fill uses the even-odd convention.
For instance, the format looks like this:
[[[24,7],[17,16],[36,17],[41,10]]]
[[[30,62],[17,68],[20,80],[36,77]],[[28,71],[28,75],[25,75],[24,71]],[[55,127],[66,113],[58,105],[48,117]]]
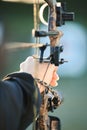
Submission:
[[[66,12],[65,2],[56,2],[56,0],[45,0],[45,2],[46,3],[40,7],[39,15],[40,15],[41,22],[45,21],[43,18],[43,11],[46,6],[49,7],[48,23],[45,21],[45,23],[47,23],[48,25],[48,32],[39,30],[39,26],[38,26],[35,27],[34,36],[36,37],[36,39],[39,39],[40,37],[46,37],[46,36],[49,37],[50,40],[49,60],[51,63],[54,63],[56,66],[59,66],[60,64],[63,64],[66,61],[64,61],[63,58],[59,59],[60,53],[63,51],[63,49],[61,51],[61,48],[63,47],[59,46],[59,41],[60,38],[63,36],[63,33],[62,31],[59,31],[57,29],[57,26],[64,25],[65,21],[72,21],[74,19],[74,13]],[[40,59],[43,59],[44,62],[46,59],[46,58],[44,59],[45,49],[46,49],[45,45],[40,48],[41,51]],[[41,61],[42,60],[40,60],[40,62]]]

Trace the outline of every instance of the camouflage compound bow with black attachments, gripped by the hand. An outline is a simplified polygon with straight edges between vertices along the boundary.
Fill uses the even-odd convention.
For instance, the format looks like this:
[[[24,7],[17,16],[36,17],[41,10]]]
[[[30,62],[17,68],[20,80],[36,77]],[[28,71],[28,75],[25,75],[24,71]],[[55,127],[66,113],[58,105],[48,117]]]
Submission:
[[[45,4],[40,9],[40,19],[43,23],[46,23],[43,18],[43,10],[46,6],[48,6],[48,31],[40,31],[38,26],[38,18],[37,24],[35,21],[35,30],[34,36],[39,40],[40,37],[49,37],[50,45],[46,44],[40,47],[40,58],[39,61],[48,62],[59,66],[63,64],[64,59],[59,58],[60,53],[63,51],[63,46],[59,45],[60,38],[63,36],[63,33],[57,29],[58,26],[62,26],[65,24],[65,21],[72,21],[74,19],[73,12],[66,12],[65,3],[56,2],[56,0],[44,0]],[[34,5],[34,11],[36,13]],[[37,8],[39,6],[37,5]],[[38,11],[37,11],[38,12]],[[34,16],[38,16],[35,14]],[[38,41],[36,40],[36,41]],[[39,41],[38,41],[39,42]],[[49,57],[44,58],[44,51],[47,46],[50,46],[50,54]],[[42,94],[42,104],[40,108],[40,114],[38,119],[36,119],[36,124],[34,130],[60,130],[60,120],[57,117],[48,116],[48,111],[53,111],[56,109],[62,102],[63,98],[59,94],[59,92],[54,91],[50,86],[47,86],[43,83],[43,81],[38,81],[40,84],[46,87],[46,91]],[[50,95],[50,96],[49,96]]]

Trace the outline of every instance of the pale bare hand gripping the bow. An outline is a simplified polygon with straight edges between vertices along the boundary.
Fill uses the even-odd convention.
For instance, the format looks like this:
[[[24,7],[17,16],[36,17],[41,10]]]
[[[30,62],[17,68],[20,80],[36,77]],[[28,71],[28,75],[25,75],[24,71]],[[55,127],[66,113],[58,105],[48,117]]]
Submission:
[[[39,63],[35,58],[29,56],[24,62],[20,64],[20,71],[29,73],[33,78],[40,79],[51,86],[57,86],[57,69],[54,64]]]

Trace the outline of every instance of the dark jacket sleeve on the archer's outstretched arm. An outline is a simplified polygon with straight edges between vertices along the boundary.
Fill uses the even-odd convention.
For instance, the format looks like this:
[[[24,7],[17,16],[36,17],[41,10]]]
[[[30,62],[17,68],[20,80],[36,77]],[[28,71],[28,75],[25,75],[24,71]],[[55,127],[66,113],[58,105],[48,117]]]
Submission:
[[[25,130],[38,114],[41,96],[27,73],[13,73],[0,82],[0,130]]]

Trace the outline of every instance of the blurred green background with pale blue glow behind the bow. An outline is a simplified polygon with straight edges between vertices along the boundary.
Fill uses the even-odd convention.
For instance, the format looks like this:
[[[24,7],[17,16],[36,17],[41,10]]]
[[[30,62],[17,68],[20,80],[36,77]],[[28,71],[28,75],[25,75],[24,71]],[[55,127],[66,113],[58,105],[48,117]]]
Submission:
[[[65,31],[61,41],[65,48],[63,56],[71,64],[68,62],[59,68],[60,81],[56,89],[62,92],[64,102],[54,113],[49,114],[60,118],[62,130],[87,130],[87,2],[66,2],[67,10],[75,12],[75,20],[73,23],[66,22],[59,29]],[[4,24],[6,43],[34,41],[31,33],[34,27],[33,5],[0,1],[0,18]],[[18,71],[19,64],[33,53],[34,49],[31,48],[6,52],[6,67],[0,78]]]

